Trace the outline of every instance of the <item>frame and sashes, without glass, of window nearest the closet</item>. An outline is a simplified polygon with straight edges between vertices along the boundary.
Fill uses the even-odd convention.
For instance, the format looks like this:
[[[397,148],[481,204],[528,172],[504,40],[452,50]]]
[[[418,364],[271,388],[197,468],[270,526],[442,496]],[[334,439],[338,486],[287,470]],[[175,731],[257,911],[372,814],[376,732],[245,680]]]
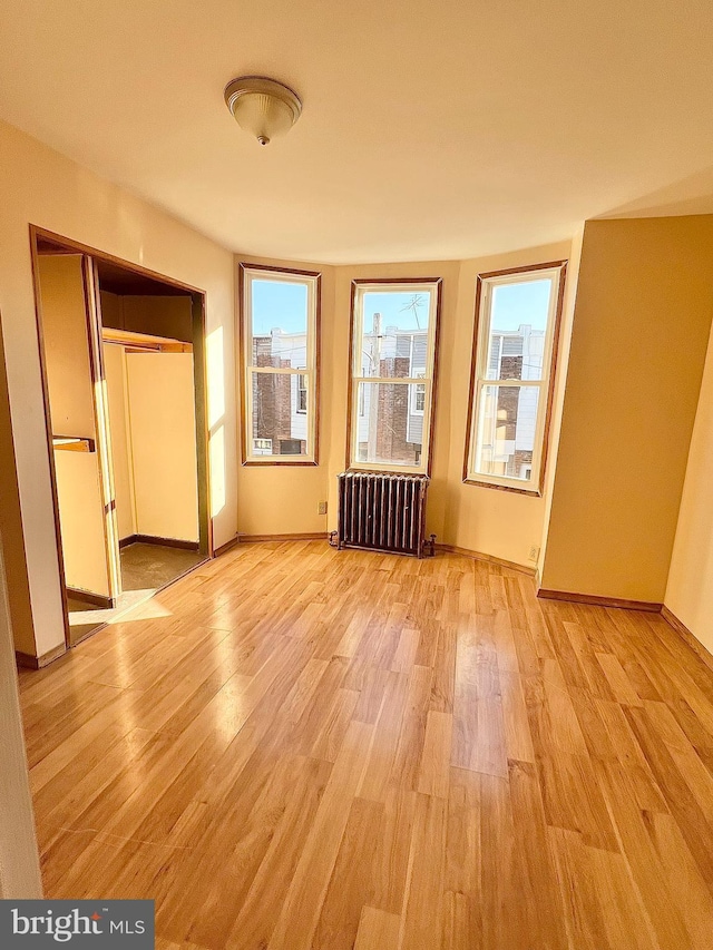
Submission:
[[[306,326],[306,365],[276,368],[255,366],[252,363],[253,354],[253,283],[255,281],[271,281],[275,283],[299,284],[307,288],[307,326]],[[318,464],[318,419],[316,407],[319,405],[319,333],[320,333],[320,274],[311,271],[290,271],[273,268],[258,264],[241,264],[242,282],[242,380],[243,380],[243,464],[257,466],[315,466]],[[300,415],[305,414],[307,421],[306,452],[303,456],[258,454],[254,449],[253,433],[253,373],[271,373],[274,375],[296,376],[297,405],[300,378],[306,381],[307,399],[306,412],[297,409]],[[273,439],[273,450],[280,440]]]

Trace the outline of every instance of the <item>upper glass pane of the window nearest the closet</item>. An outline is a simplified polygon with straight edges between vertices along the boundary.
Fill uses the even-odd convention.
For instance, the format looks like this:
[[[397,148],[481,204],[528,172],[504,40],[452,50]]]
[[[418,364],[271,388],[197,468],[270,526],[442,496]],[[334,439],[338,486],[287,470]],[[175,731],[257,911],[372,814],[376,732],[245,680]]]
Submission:
[[[304,366],[307,339],[307,287],[253,278],[252,365]]]

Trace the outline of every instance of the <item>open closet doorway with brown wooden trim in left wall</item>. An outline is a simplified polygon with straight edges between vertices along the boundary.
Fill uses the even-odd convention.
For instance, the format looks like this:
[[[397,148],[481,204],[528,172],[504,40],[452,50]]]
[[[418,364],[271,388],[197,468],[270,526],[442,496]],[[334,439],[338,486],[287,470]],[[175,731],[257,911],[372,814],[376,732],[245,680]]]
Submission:
[[[213,555],[205,295],[30,228],[67,646]]]

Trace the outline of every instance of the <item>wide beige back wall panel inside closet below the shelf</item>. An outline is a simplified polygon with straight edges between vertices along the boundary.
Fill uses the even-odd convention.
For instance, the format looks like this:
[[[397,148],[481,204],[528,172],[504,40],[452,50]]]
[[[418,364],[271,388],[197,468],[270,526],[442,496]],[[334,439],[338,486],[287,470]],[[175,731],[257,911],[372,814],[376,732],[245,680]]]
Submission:
[[[139,535],[198,540],[193,354],[127,353]]]

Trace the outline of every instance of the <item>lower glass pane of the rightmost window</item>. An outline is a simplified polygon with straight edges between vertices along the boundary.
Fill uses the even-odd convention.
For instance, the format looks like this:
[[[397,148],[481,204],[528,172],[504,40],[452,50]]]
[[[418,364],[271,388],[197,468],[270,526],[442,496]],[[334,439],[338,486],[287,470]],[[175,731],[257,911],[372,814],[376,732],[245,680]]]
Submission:
[[[530,477],[538,386],[484,386],[476,447],[476,471],[522,479]]]

